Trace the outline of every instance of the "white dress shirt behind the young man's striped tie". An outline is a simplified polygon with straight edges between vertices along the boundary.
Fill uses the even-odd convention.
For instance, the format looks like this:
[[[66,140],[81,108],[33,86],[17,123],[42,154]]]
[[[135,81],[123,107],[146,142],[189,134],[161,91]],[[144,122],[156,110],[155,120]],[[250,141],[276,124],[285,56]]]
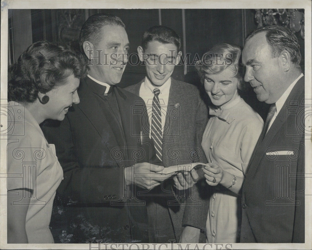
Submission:
[[[166,113],[167,113],[167,106],[168,106],[168,99],[169,99],[169,90],[171,85],[171,78],[161,85],[158,89],[160,93],[158,95],[160,108],[161,108],[161,131],[163,133],[163,129],[165,127],[166,122]],[[141,84],[139,96],[144,100],[147,113],[149,116],[149,137],[151,138],[151,124],[152,124],[152,106],[153,106],[153,98],[154,92],[153,90],[157,89],[153,86],[149,79],[145,77],[144,82]]]

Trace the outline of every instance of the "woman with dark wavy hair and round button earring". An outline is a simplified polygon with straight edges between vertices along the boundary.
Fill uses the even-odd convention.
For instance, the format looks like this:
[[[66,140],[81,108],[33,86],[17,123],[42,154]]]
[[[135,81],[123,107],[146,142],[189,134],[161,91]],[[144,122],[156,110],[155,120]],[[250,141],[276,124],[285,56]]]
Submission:
[[[7,242],[53,243],[49,229],[52,204],[63,171],[55,147],[39,124],[63,120],[79,103],[79,79],[85,63],[67,46],[32,44],[12,65],[8,110],[14,119],[7,139]],[[12,126],[11,126],[12,127]]]

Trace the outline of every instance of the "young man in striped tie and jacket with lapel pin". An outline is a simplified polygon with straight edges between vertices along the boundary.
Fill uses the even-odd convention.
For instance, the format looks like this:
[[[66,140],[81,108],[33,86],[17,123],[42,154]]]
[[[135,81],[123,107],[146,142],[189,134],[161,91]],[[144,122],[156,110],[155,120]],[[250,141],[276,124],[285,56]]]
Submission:
[[[149,134],[164,167],[207,162],[201,147],[207,107],[197,87],[171,77],[179,63],[180,46],[180,37],[168,27],[154,26],[145,31],[138,54],[145,64],[146,77],[126,88],[147,105]],[[195,170],[185,176],[179,173],[146,194],[151,243],[179,242],[185,208],[180,198],[187,194],[180,190],[197,179]]]

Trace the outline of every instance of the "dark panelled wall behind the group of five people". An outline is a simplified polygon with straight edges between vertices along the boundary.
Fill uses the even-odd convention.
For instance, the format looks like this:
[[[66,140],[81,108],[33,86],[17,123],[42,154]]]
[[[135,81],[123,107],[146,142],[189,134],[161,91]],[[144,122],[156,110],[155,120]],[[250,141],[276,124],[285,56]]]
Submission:
[[[246,35],[257,27],[253,9],[10,9],[8,64],[14,63],[36,41],[64,42],[79,49],[82,24],[90,15],[99,12],[114,14],[122,19],[130,42],[129,54],[137,52],[143,32],[149,27],[165,25],[172,28],[181,36],[183,57],[185,52],[190,53],[189,63],[193,62],[196,54],[201,57],[217,43],[244,46]],[[304,40],[297,37],[304,70]],[[135,62],[136,57],[133,60]],[[128,63],[118,86],[138,83],[144,76],[144,66]],[[193,65],[177,65],[172,77],[199,87],[201,85]],[[241,96],[263,118],[266,117],[267,105],[257,101],[251,88]]]

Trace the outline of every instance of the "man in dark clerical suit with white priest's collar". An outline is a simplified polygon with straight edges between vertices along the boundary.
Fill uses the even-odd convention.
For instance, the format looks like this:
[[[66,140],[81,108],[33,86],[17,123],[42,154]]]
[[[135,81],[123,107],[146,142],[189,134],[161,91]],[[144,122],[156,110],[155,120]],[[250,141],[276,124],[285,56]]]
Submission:
[[[143,100],[115,86],[128,61],[124,23],[102,13],[89,17],[80,31],[80,49],[88,60],[80,103],[59,126],[42,128],[64,171],[51,230],[61,243],[147,242],[146,206],[136,194],[166,177],[155,173],[162,166],[147,163],[154,146],[144,139],[142,116],[132,114],[137,103],[136,110],[145,112]]]

